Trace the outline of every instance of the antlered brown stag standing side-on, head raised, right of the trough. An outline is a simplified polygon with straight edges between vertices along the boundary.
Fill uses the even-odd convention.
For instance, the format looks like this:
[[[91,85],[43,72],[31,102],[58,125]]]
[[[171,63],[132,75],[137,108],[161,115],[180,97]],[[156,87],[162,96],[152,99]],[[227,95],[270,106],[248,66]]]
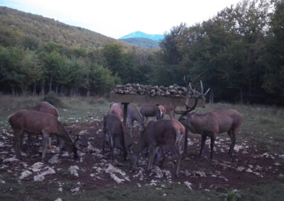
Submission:
[[[211,138],[210,142],[211,154],[210,154],[209,163],[212,163],[213,149],[214,149],[214,142],[216,139],[216,135],[222,132],[228,132],[229,137],[231,137],[231,146],[228,152],[228,160],[231,161],[232,154],[234,151],[234,146],[236,143],[236,135],[239,133],[239,128],[241,127],[241,122],[243,120],[243,117],[236,110],[211,111],[209,113],[204,113],[204,114],[197,114],[196,112],[190,113],[190,111],[195,109],[198,99],[204,98],[204,96],[206,96],[206,94],[209,91],[208,89],[206,93],[203,93],[202,81],[200,81],[200,84],[201,84],[201,91],[200,95],[195,96],[195,104],[192,107],[190,107],[185,103],[187,110],[183,111],[175,110],[175,113],[181,114],[178,120],[182,123],[182,125],[184,125],[187,128],[187,130],[190,130],[190,132],[192,133],[201,134],[202,136],[200,154],[197,156],[197,161],[202,156],[204,144],[208,136]],[[190,84],[188,86],[188,90],[193,91]]]

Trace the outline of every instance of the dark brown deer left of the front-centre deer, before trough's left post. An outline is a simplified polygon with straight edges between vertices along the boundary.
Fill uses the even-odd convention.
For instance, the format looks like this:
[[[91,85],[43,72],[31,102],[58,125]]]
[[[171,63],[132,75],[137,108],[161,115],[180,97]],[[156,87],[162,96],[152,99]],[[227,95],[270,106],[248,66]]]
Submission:
[[[116,138],[119,138],[120,146],[124,152],[124,160],[126,160],[127,151],[124,142],[125,127],[116,115],[107,114],[104,116],[104,142],[102,144],[102,152],[104,153],[104,144],[109,142],[109,148],[111,152],[111,161],[114,160],[114,147]]]

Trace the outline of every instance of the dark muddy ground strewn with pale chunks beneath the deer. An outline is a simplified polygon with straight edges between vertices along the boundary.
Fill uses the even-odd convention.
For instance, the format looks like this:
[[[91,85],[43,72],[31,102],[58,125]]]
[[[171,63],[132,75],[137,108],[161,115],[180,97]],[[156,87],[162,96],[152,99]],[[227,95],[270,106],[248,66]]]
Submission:
[[[18,178],[19,183],[37,183],[48,181],[55,185],[60,192],[76,193],[77,191],[92,190],[94,188],[109,188],[111,186],[153,185],[155,188],[166,188],[170,183],[187,185],[190,189],[211,190],[222,186],[226,189],[244,189],[250,185],[270,183],[276,178],[283,177],[284,154],[268,154],[266,147],[250,142],[236,143],[234,161],[227,162],[227,150],[230,139],[226,134],[217,137],[214,151],[214,162],[208,165],[209,140],[204,147],[204,154],[200,162],[195,156],[200,149],[200,137],[189,136],[187,155],[182,156],[180,176],[173,178],[171,173],[175,169],[175,158],[166,154],[163,166],[154,166],[151,173],[146,173],[147,159],[144,154],[138,160],[139,170],[129,171],[129,161],[124,161],[119,150],[115,151],[114,163],[109,161],[109,153],[102,154],[102,122],[72,123],[67,130],[74,138],[80,133],[77,142],[79,160],[72,159],[68,151],[60,151],[53,139],[53,149],[47,154],[47,163],[41,161],[40,140],[33,137],[31,147],[23,144],[23,160],[15,159],[13,151],[13,133],[2,130],[0,135],[0,173],[10,174]],[[138,127],[135,127],[135,137],[130,139],[127,127],[126,146],[138,140]],[[241,139],[246,133],[240,132]],[[183,144],[183,140],[182,140]],[[183,147],[183,145],[181,146]],[[75,185],[66,185],[66,180],[72,180]],[[5,179],[0,177],[0,183]],[[1,189],[0,189],[1,191]]]

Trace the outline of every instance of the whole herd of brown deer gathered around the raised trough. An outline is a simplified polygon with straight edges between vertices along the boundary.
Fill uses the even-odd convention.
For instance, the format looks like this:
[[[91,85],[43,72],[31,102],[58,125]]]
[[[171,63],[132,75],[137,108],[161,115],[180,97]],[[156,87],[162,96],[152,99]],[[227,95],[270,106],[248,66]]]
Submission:
[[[209,164],[212,163],[214,142],[217,134],[227,132],[231,138],[231,146],[228,151],[228,160],[232,160],[232,154],[236,143],[236,135],[239,132],[242,122],[242,116],[236,110],[218,110],[209,113],[197,114],[195,110],[197,101],[204,98],[209,89],[203,93],[203,86],[199,95],[195,95],[195,103],[193,106],[188,104],[188,95],[190,91],[194,91],[190,84],[187,85],[187,95],[184,98],[184,110],[177,110],[175,105],[141,105],[140,110],[135,105],[127,105],[127,122],[130,126],[130,137],[133,137],[133,123],[136,121],[139,127],[138,142],[133,142],[126,146],[126,127],[123,123],[124,105],[121,103],[111,103],[109,112],[103,118],[103,142],[102,152],[105,151],[107,145],[110,150],[110,159],[114,160],[114,149],[120,149],[124,157],[130,161],[132,170],[136,169],[138,157],[144,149],[148,154],[147,171],[151,169],[154,161],[158,161],[159,165],[163,163],[165,150],[170,150],[176,158],[176,167],[174,175],[178,176],[180,169],[180,142],[182,137],[187,138],[187,131],[200,134],[202,143],[197,161],[202,156],[207,137],[210,137],[210,157]],[[192,97],[191,97],[192,98]],[[140,112],[140,113],[139,113]],[[170,119],[164,119],[165,114]],[[178,120],[175,120],[175,114],[179,114]],[[155,117],[147,123],[148,117]],[[79,139],[72,139],[68,134],[62,122],[59,120],[58,110],[47,102],[38,103],[33,110],[18,110],[8,117],[9,124],[13,129],[14,141],[13,148],[16,157],[21,159],[21,144],[23,143],[23,135],[28,134],[28,144],[31,141],[31,135],[42,136],[43,154],[42,160],[45,161],[45,154],[50,147],[50,137],[58,137],[60,149],[68,149],[72,152],[74,159],[77,159],[76,142]],[[187,140],[185,140],[187,143]],[[187,146],[187,144],[185,144]]]

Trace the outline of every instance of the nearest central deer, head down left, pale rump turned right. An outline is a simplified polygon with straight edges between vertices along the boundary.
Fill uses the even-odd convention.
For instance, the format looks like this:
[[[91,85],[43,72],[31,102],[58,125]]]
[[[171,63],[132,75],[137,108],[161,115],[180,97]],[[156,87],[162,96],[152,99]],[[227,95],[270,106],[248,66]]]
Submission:
[[[138,144],[130,148],[129,159],[132,168],[136,168],[138,156],[141,151],[149,147],[151,150],[147,166],[147,171],[149,171],[158,148],[166,146],[169,147],[176,156],[177,165],[174,174],[178,176],[180,170],[180,140],[183,134],[185,134],[185,127],[178,122],[178,120],[160,120],[147,125],[146,129],[141,133]]]

